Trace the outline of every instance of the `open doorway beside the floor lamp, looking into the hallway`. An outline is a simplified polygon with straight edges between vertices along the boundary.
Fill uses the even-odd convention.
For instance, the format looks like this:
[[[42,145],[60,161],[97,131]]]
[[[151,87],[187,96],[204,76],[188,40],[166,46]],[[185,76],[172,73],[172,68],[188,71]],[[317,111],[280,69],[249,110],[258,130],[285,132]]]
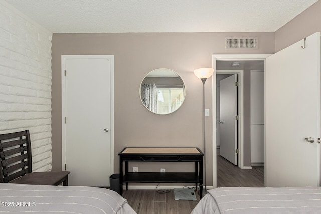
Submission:
[[[216,120],[213,123],[216,124],[213,127],[216,132],[217,187],[264,187],[264,65],[265,59],[215,59]],[[220,96],[226,95],[225,92],[220,95],[220,89],[226,82],[224,80],[233,79],[233,76],[237,82],[234,85],[236,114],[230,115],[230,118],[235,120],[235,129],[222,131],[224,121],[221,118],[221,109],[226,107],[220,102]],[[227,106],[230,108],[228,104]],[[226,158],[225,151],[222,152],[226,147],[224,144],[227,143],[225,142],[227,138],[222,136],[224,132],[229,135],[235,132],[235,138],[231,138],[234,142],[229,143],[235,145],[229,147],[229,153],[235,156],[235,162]]]

